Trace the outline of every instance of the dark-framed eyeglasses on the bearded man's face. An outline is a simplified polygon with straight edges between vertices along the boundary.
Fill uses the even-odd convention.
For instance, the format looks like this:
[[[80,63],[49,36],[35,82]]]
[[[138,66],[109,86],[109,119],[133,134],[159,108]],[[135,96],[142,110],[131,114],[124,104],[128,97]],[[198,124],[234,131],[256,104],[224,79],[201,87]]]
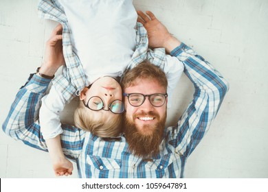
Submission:
[[[161,107],[164,105],[166,97],[168,97],[167,93],[155,93],[151,95],[143,95],[142,93],[123,93],[123,95],[128,97],[129,104],[134,107],[141,106],[144,103],[146,97],[149,98],[150,104],[155,107]]]

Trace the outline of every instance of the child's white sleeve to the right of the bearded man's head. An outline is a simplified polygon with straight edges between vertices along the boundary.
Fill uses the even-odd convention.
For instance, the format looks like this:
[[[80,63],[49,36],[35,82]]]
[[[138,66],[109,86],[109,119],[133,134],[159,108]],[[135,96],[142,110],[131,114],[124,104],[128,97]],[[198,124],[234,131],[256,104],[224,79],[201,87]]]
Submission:
[[[164,72],[168,79],[168,108],[172,104],[172,93],[179,82],[179,79],[183,73],[184,65],[176,57],[166,55],[166,63],[164,67]]]

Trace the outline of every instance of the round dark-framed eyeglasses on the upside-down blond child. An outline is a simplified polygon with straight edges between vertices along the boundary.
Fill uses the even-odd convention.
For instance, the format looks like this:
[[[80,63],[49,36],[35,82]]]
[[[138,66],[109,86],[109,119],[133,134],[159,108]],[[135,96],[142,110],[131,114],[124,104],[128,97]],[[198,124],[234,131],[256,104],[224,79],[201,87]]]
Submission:
[[[93,96],[87,101],[87,104],[83,102],[85,107],[89,108],[90,110],[105,110],[104,109],[104,102],[98,96]],[[109,104],[108,110],[115,114],[120,114],[124,112],[124,103],[121,100],[114,100]]]

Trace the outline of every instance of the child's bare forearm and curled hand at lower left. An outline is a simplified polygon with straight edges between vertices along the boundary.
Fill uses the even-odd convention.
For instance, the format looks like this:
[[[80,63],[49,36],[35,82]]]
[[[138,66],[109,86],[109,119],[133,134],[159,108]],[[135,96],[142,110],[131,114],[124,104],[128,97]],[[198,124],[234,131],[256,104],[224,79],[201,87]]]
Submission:
[[[47,139],[47,149],[52,160],[53,169],[56,176],[69,176],[73,171],[73,164],[65,158],[60,145],[60,135]]]

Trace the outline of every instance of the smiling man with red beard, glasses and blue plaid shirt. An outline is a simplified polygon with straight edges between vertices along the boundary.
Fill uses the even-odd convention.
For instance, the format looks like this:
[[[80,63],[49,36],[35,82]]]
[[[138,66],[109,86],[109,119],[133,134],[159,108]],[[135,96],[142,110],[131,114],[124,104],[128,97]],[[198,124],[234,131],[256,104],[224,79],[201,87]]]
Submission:
[[[107,140],[73,125],[62,125],[63,152],[78,165],[80,178],[183,178],[186,160],[210,128],[228,91],[228,83],[209,62],[171,36],[151,12],[146,13],[148,16],[138,12],[138,21],[147,29],[150,47],[165,47],[183,62],[184,73],[194,84],[193,99],[177,125],[165,128],[168,83],[164,72],[148,62],[126,71],[121,136]],[[60,47],[47,48],[58,53],[55,49]],[[57,54],[52,57],[56,58]],[[44,151],[47,145],[38,109],[50,81],[32,75],[3,123],[6,134]]]

